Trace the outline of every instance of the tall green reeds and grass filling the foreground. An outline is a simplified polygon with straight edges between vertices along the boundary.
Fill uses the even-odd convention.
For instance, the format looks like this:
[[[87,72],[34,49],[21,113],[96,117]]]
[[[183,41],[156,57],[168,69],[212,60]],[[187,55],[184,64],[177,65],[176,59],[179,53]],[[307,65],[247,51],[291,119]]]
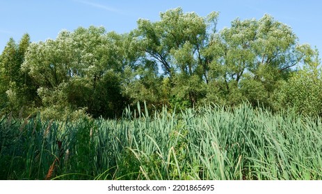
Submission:
[[[322,179],[322,123],[244,104],[0,120],[0,179]]]

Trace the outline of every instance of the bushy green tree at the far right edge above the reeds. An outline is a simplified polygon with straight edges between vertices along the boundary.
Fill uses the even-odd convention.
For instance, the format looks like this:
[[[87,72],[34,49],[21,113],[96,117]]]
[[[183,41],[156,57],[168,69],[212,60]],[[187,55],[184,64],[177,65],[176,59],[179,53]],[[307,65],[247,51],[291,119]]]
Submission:
[[[280,82],[271,98],[275,110],[294,109],[308,116],[322,116],[322,70],[319,53],[305,45],[304,66]]]

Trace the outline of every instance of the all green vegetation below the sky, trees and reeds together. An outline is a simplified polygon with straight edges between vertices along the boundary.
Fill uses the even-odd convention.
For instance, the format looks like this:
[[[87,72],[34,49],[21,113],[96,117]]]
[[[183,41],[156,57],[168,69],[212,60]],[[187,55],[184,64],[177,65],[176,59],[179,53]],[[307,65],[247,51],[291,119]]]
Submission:
[[[319,52],[270,15],[217,24],[10,39],[0,179],[321,179]]]

